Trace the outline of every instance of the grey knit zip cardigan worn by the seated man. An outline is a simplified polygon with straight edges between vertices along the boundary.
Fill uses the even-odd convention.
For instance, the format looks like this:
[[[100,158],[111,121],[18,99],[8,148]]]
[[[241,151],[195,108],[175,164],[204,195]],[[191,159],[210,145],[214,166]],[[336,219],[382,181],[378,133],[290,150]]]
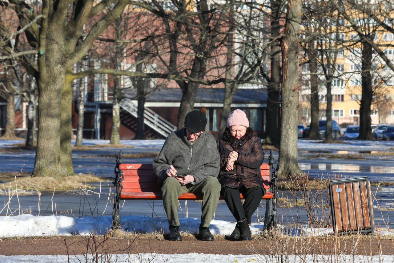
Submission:
[[[167,177],[165,171],[173,165],[180,175],[193,175],[195,183],[206,176],[217,177],[220,156],[214,136],[203,132],[194,141],[188,141],[185,128],[172,132],[164,142],[152,166],[159,184]]]

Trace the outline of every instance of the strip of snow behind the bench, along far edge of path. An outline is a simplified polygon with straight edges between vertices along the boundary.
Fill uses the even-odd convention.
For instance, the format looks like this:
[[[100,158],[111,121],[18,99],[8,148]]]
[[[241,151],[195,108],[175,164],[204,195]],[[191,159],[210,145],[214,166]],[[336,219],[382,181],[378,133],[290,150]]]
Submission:
[[[1,237],[31,237],[31,236],[53,236],[53,235],[78,235],[95,233],[104,234],[110,228],[112,216],[0,216],[0,238]],[[181,230],[196,233],[200,224],[199,218],[179,218]],[[217,235],[230,235],[236,223],[224,220],[212,220],[210,231]],[[252,223],[252,234],[258,234],[263,229],[262,222]],[[141,233],[164,232],[168,233],[168,221],[165,218],[151,218],[145,215],[122,216],[122,228],[127,231]],[[333,233],[332,228],[282,228],[288,235],[322,236]],[[381,235],[390,235],[388,231],[381,231]]]

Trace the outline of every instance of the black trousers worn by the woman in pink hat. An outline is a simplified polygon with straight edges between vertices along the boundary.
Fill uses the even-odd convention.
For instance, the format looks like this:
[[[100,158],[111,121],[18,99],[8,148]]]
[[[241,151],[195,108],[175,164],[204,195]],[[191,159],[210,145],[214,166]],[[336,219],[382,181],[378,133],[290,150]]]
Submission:
[[[247,222],[250,224],[252,215],[255,213],[263,196],[263,189],[261,187],[248,189],[244,186],[239,189],[222,187],[221,193],[235,219],[239,221],[242,218],[246,218]],[[243,198],[245,198],[243,205],[240,193],[242,193]]]

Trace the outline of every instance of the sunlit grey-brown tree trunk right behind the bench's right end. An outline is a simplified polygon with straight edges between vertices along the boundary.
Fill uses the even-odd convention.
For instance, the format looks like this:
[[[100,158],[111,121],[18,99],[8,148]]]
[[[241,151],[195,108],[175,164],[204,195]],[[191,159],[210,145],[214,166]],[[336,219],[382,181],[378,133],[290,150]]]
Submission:
[[[301,22],[301,2],[289,0],[286,26],[282,38],[283,82],[281,145],[279,147],[278,173],[280,178],[299,174],[297,150],[298,122],[298,37]]]

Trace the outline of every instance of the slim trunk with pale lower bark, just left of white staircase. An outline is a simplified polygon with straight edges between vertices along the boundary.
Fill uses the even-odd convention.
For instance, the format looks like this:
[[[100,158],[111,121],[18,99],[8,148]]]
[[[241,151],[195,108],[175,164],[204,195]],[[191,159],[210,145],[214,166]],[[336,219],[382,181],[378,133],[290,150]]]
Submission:
[[[110,144],[120,144],[120,127],[121,127],[121,117],[120,117],[120,77],[114,76],[113,78],[113,101],[112,101],[112,125],[111,125],[111,140]]]

